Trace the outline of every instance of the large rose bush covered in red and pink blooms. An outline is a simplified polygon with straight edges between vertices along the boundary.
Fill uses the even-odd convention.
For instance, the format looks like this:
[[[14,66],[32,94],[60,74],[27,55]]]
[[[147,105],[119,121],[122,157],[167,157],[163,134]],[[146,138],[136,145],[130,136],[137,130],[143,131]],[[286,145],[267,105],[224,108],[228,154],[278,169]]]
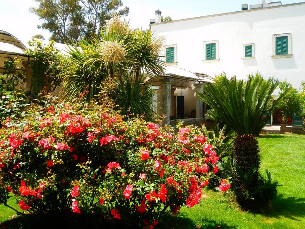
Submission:
[[[202,187],[217,178],[217,153],[192,126],[174,134],[141,118],[123,121],[109,104],[59,100],[23,116],[0,130],[0,200],[12,193],[19,213],[160,227],[181,206],[198,204]],[[230,187],[219,183],[221,191]]]

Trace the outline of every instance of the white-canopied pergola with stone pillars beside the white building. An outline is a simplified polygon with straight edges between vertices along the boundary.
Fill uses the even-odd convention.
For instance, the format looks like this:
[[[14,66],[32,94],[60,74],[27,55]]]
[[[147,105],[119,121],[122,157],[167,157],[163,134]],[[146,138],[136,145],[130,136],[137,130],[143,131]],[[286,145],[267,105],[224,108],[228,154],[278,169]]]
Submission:
[[[171,89],[186,89],[192,85],[195,90],[203,92],[202,85],[206,82],[213,82],[212,77],[204,73],[192,73],[188,70],[177,67],[164,67],[165,74],[156,76],[150,80],[153,85],[162,87],[162,108],[166,118],[164,125],[170,125],[171,98],[174,93]],[[203,102],[196,97],[196,118],[203,117]]]

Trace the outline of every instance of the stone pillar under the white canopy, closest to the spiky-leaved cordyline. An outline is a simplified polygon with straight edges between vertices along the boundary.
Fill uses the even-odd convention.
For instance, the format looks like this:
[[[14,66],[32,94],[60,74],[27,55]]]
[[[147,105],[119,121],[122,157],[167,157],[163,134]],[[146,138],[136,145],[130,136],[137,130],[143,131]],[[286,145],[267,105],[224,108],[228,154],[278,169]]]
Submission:
[[[160,79],[162,82],[162,108],[166,117],[163,125],[170,125],[170,84],[174,82],[172,79]]]

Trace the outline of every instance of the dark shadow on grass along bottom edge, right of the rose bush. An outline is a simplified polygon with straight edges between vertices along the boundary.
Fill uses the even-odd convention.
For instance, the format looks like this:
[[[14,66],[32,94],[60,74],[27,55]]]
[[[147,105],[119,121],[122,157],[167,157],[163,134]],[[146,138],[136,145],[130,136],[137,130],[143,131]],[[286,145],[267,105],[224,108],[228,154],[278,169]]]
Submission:
[[[159,227],[158,227],[159,228]],[[161,225],[160,228],[172,228],[172,229],[237,229],[237,226],[231,226],[223,221],[208,220],[201,218],[194,222],[187,218],[183,213],[179,216],[171,216],[167,223]]]

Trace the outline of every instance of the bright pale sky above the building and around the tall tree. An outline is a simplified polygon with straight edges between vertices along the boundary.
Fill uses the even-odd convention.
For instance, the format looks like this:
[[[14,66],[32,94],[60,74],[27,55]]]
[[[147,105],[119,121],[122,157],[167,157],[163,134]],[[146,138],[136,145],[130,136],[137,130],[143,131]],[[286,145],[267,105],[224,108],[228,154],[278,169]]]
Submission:
[[[273,0],[275,2],[276,0]],[[282,0],[282,4],[301,2],[302,0]],[[241,10],[242,4],[260,3],[261,0],[122,0],[130,13],[126,17],[134,28],[146,29],[149,19],[155,18],[155,10],[160,9],[162,16],[171,16],[173,20],[196,16],[226,13]],[[24,44],[35,34],[41,33],[45,39],[50,33],[37,28],[41,24],[39,17],[30,13],[33,0],[0,0],[0,30],[7,31]]]

